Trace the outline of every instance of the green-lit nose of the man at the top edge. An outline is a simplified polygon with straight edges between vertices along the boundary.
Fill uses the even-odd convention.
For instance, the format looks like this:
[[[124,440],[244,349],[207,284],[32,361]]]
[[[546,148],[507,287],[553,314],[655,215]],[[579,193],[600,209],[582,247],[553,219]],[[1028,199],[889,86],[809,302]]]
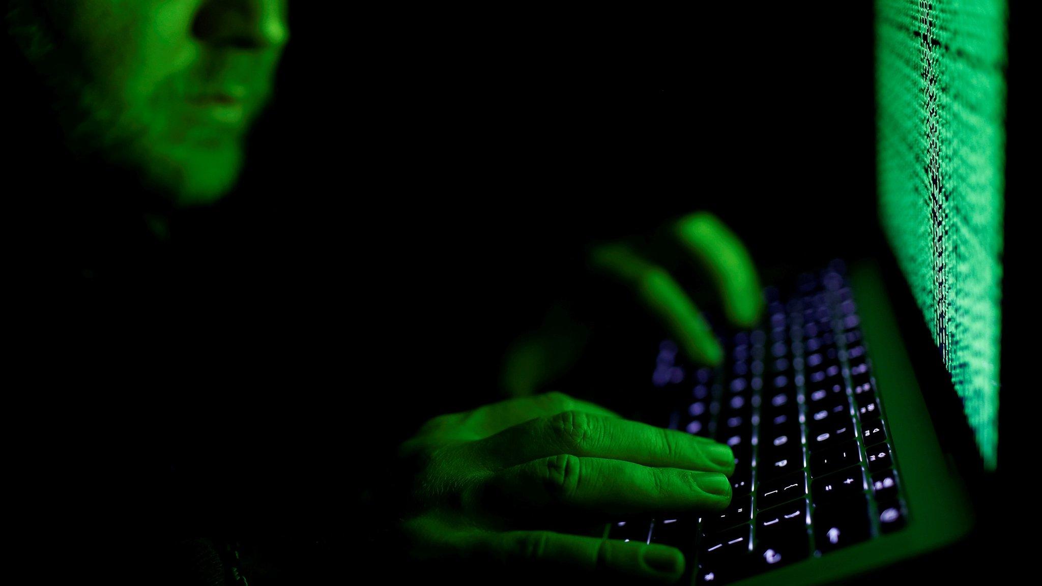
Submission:
[[[193,34],[205,43],[240,49],[278,48],[290,40],[288,0],[204,0]]]

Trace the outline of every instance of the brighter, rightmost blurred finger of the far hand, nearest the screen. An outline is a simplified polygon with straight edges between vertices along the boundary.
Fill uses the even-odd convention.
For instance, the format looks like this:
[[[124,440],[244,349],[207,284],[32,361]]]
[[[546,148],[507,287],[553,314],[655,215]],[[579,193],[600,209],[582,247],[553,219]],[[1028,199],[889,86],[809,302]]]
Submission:
[[[685,249],[710,273],[727,318],[737,325],[755,325],[764,304],[760,277],[738,236],[706,212],[680,218],[674,229]]]

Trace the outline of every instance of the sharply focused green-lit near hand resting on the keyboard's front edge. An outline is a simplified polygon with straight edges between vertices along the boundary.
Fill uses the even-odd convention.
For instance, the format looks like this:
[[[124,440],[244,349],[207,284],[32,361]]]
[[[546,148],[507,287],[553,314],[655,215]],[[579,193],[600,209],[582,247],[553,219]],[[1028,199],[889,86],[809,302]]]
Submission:
[[[561,393],[436,417],[401,456],[417,472],[403,521],[411,555],[553,579],[675,582],[678,550],[570,534],[566,521],[718,511],[735,468],[726,445]]]

